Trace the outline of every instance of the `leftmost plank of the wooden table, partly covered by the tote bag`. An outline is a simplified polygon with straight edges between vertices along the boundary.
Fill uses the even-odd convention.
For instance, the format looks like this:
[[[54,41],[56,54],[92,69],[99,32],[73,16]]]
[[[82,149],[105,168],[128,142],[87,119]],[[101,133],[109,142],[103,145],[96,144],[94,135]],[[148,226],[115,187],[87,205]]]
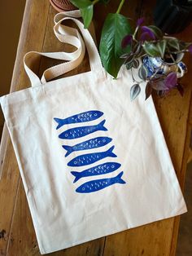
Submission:
[[[41,10],[45,16],[41,15]],[[11,82],[11,91],[21,90],[28,86],[28,78],[24,73],[24,53],[30,50],[41,51],[46,28],[46,12],[49,11],[49,3],[46,0],[27,1],[24,11],[24,20],[20,33],[20,42],[15,60],[15,68]],[[41,16],[41,22],[37,17]],[[41,25],[39,25],[41,24]],[[28,27],[30,29],[28,29]],[[35,33],[34,33],[35,32]],[[2,179],[0,181],[0,231],[5,230],[5,239],[0,240],[0,255],[7,254],[7,243],[10,239],[10,227],[15,208],[15,196],[18,189],[20,174],[15,160],[11,139],[4,129],[2,134],[1,166]]]

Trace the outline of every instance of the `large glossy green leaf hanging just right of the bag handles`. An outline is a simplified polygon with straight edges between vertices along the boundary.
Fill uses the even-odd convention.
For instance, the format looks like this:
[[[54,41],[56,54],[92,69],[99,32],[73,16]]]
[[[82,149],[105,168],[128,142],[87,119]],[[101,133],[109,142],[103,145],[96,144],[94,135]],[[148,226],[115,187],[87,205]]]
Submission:
[[[103,24],[99,46],[104,68],[113,77],[117,77],[124,60],[120,56],[130,52],[130,46],[122,49],[121,41],[125,35],[131,33],[129,21],[124,15],[110,13]]]

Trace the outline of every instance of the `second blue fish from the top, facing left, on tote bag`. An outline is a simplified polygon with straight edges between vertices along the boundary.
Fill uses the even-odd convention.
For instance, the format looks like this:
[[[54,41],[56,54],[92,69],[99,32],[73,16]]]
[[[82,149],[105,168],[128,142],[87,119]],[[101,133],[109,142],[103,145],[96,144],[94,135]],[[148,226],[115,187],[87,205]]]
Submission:
[[[63,131],[59,135],[59,139],[76,139],[81,138],[85,135],[92,134],[93,132],[97,130],[107,130],[107,128],[104,127],[105,120],[101,121],[96,126],[82,126],[82,127],[75,127],[72,129],[68,129]]]

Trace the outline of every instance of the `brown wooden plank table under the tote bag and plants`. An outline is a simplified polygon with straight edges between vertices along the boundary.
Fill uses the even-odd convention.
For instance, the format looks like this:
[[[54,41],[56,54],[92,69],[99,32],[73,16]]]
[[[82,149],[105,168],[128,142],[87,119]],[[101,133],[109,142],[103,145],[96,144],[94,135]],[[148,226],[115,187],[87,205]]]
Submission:
[[[106,12],[116,11],[117,5],[118,1],[111,1],[110,7],[105,8],[98,5],[95,8],[95,28],[98,38]],[[149,24],[154,5],[155,1],[150,0],[127,1],[124,4],[123,13],[133,20],[137,20],[139,16],[145,16],[146,24]],[[53,33],[54,15],[55,11],[50,7],[48,0],[28,0],[26,2],[11,91],[21,90],[29,86],[23,67],[25,52],[32,50],[63,51],[65,49],[65,46],[57,41]],[[178,35],[179,38],[192,41],[191,29],[192,26],[185,29],[183,33]],[[41,73],[47,65],[52,64],[55,64],[55,60],[41,60],[34,66],[34,70]],[[176,90],[163,99],[155,97],[155,107],[181,188],[184,187],[190,124],[192,123],[190,112],[192,61],[189,55],[185,57],[185,64],[189,68],[189,73],[182,80],[185,84],[184,97],[182,98]],[[84,72],[88,68],[89,63],[85,59],[81,67],[76,68],[76,71],[71,72],[70,75]],[[40,255],[23,184],[15,160],[15,153],[6,126],[2,135],[0,162],[2,166],[2,179],[0,181],[0,255]],[[64,249],[53,255],[174,255],[177,246],[178,227],[179,217],[168,218],[70,249]]]

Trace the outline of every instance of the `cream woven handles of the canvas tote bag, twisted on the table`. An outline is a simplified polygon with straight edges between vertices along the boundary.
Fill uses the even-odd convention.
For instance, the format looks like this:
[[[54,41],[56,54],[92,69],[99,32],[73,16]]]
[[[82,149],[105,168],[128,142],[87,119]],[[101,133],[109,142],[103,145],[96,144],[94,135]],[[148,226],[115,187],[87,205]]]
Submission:
[[[44,84],[51,79],[76,68],[79,64],[81,64],[82,60],[84,59],[85,46],[88,51],[91,70],[94,71],[94,74],[96,76],[101,76],[104,74],[103,66],[101,64],[98,50],[95,46],[93,38],[91,37],[88,29],[84,29],[84,25],[81,23],[81,21],[76,20],[76,18],[80,16],[81,13],[79,10],[62,12],[55,15],[55,36],[59,39],[60,42],[65,42],[71,44],[72,46],[76,46],[76,51],[73,51],[71,53],[64,51],[49,53],[30,51],[26,55],[24,55],[24,68],[26,73],[28,74],[32,86],[39,86],[41,84]],[[77,27],[81,31],[81,34],[83,35],[84,40],[81,38],[81,34],[77,29],[73,29],[64,25],[66,20],[72,20],[76,23]],[[35,73],[33,73],[30,68],[37,55],[43,55],[56,60],[68,60],[68,62],[55,65],[51,68],[47,68],[40,79]]]

